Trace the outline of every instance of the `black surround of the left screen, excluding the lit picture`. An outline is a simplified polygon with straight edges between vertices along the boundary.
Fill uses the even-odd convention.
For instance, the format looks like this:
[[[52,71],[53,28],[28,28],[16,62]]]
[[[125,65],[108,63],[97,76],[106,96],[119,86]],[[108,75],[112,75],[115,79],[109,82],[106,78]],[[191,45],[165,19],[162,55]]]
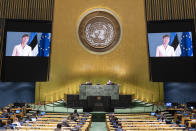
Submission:
[[[48,57],[6,56],[7,32],[51,33],[49,56]],[[49,81],[50,56],[52,54],[52,36],[53,36],[52,35],[52,21],[5,19],[1,80],[3,82]],[[24,62],[24,65],[21,62],[22,63]],[[22,73],[17,70],[12,69],[13,68],[12,64],[17,65],[17,68],[19,68],[19,70],[21,70]],[[28,70],[27,66],[30,66],[30,70]],[[29,74],[31,74],[30,77],[27,77],[28,71],[30,71],[29,72]],[[17,75],[17,74],[20,74],[20,75]]]

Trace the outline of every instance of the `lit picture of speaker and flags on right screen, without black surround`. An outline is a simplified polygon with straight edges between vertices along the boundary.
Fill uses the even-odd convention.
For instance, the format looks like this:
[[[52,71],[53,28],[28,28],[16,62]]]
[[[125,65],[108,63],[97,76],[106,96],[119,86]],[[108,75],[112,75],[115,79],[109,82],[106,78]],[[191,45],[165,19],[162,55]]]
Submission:
[[[191,32],[148,33],[150,57],[193,56]]]

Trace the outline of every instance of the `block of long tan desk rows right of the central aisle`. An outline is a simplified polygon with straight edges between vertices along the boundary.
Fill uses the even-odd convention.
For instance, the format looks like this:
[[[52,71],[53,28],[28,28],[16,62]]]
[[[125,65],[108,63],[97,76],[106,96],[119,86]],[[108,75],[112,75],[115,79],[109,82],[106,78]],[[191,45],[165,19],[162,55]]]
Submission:
[[[119,129],[118,125],[114,125],[111,121],[111,114],[106,114],[106,125],[108,131]],[[175,124],[166,124],[159,122],[155,116],[150,114],[112,114],[120,123],[120,128],[126,131],[129,130],[183,130],[184,127],[176,127]]]

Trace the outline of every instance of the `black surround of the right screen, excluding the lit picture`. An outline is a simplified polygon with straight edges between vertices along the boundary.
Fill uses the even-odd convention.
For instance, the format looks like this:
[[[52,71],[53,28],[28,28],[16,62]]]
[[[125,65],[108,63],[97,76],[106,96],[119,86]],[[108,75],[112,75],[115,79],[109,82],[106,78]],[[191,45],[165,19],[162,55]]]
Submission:
[[[180,28],[179,28],[180,26]],[[191,32],[193,56],[151,57],[148,33]],[[193,19],[147,21],[147,56],[149,78],[153,82],[195,82],[196,81],[196,43]],[[183,66],[187,70],[183,70]],[[159,70],[159,67],[161,67]],[[185,74],[190,76],[180,76]]]

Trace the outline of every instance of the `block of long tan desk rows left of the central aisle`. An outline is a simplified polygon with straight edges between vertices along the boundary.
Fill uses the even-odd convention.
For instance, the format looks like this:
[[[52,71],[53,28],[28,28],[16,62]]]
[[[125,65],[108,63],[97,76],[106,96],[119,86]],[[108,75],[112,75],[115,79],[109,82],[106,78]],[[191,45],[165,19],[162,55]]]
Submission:
[[[44,116],[40,116],[37,118],[36,121],[34,122],[29,122],[24,124],[23,126],[17,127],[20,130],[28,130],[28,131],[33,131],[33,130],[51,130],[54,131],[54,129],[56,128],[58,123],[61,123],[63,121],[64,118],[67,118],[69,114],[65,114],[65,113],[58,113],[58,115],[56,115],[55,113],[46,113]],[[79,121],[82,118],[86,118],[85,122],[81,122]],[[62,127],[62,130],[66,131],[66,130],[71,130],[73,128],[75,128],[76,126],[79,126],[79,129],[81,131],[89,131],[90,125],[91,125],[91,114],[89,114],[88,116],[84,116],[84,114],[80,114],[79,115],[79,119],[78,121],[69,121],[67,120],[67,122],[69,123],[70,127]]]

